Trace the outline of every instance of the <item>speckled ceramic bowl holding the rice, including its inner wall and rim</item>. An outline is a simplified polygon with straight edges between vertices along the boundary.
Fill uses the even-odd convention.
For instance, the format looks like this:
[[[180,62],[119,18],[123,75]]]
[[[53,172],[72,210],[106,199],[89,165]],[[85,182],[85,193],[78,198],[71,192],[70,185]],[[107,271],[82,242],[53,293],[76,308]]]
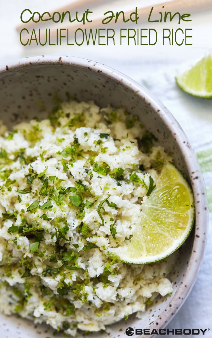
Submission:
[[[174,161],[191,183],[196,207],[196,221],[192,233],[180,248],[180,260],[170,276],[174,284],[171,297],[158,297],[142,319],[131,315],[127,321],[110,325],[102,338],[126,338],[126,328],[164,328],[182,306],[196,280],[204,255],[207,234],[205,190],[195,155],[178,122],[151,93],[127,76],[105,65],[70,56],[41,56],[25,58],[1,68],[1,119],[12,125],[35,115],[45,117],[37,101],[53,106],[52,93],[58,91],[65,100],[65,92],[81,100],[95,100],[100,106],[122,104],[126,110],[140,117],[166,150],[174,153]],[[0,317],[1,338],[49,338],[51,328],[34,325],[16,316]],[[89,337],[99,337],[96,333]],[[62,335],[59,337],[62,337]],[[84,337],[79,332],[79,337]],[[138,337],[138,336],[136,336]],[[155,335],[145,335],[155,337]]]

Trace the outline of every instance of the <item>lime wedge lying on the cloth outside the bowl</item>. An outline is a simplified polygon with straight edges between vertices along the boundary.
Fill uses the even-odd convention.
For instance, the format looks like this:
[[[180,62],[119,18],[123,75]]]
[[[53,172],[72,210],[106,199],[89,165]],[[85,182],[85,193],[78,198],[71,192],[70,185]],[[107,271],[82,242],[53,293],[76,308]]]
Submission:
[[[212,55],[204,57],[190,70],[176,77],[178,86],[193,96],[212,97]]]

